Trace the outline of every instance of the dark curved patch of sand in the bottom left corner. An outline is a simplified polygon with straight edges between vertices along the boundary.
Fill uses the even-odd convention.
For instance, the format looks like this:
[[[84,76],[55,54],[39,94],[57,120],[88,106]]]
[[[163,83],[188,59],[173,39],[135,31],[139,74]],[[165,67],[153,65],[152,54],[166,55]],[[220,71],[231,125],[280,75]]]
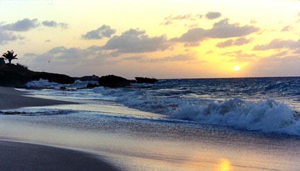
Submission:
[[[116,170],[92,154],[45,145],[0,141],[0,170]]]

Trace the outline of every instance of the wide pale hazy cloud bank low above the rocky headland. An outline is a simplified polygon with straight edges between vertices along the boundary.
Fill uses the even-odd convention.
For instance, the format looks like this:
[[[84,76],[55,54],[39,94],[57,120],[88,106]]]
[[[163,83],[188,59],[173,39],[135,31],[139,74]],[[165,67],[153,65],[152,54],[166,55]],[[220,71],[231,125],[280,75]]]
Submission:
[[[88,48],[58,46],[45,53],[26,53],[24,56],[26,56],[24,57],[26,64],[35,68],[36,71],[68,73],[70,75],[95,73],[99,67],[101,67],[100,73],[110,73],[111,68],[120,61],[119,58],[112,57],[110,52],[102,51],[101,46]]]

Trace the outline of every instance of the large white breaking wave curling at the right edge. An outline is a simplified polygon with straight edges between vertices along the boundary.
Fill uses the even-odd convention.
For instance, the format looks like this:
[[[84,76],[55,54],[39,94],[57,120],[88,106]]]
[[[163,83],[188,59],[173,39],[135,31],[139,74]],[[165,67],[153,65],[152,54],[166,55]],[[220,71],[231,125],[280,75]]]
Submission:
[[[233,98],[212,102],[206,107],[185,106],[178,108],[172,117],[239,129],[300,135],[297,112],[270,98],[260,102]]]

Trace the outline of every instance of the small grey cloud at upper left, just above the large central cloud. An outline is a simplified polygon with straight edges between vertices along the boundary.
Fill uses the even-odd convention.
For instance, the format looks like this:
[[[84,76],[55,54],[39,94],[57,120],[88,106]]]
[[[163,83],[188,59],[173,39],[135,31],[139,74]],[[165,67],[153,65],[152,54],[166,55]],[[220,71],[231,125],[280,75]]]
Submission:
[[[96,30],[91,30],[85,35],[82,35],[83,39],[103,39],[104,37],[110,38],[115,34],[116,30],[110,28],[110,26],[103,25]]]

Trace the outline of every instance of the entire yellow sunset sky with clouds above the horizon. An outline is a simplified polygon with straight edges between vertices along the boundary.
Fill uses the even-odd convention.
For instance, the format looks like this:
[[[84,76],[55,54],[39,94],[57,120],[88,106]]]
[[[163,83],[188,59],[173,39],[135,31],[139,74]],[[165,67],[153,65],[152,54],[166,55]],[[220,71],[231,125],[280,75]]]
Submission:
[[[129,79],[300,76],[297,0],[0,0],[0,6],[0,53],[13,49],[12,63],[33,71]]]

